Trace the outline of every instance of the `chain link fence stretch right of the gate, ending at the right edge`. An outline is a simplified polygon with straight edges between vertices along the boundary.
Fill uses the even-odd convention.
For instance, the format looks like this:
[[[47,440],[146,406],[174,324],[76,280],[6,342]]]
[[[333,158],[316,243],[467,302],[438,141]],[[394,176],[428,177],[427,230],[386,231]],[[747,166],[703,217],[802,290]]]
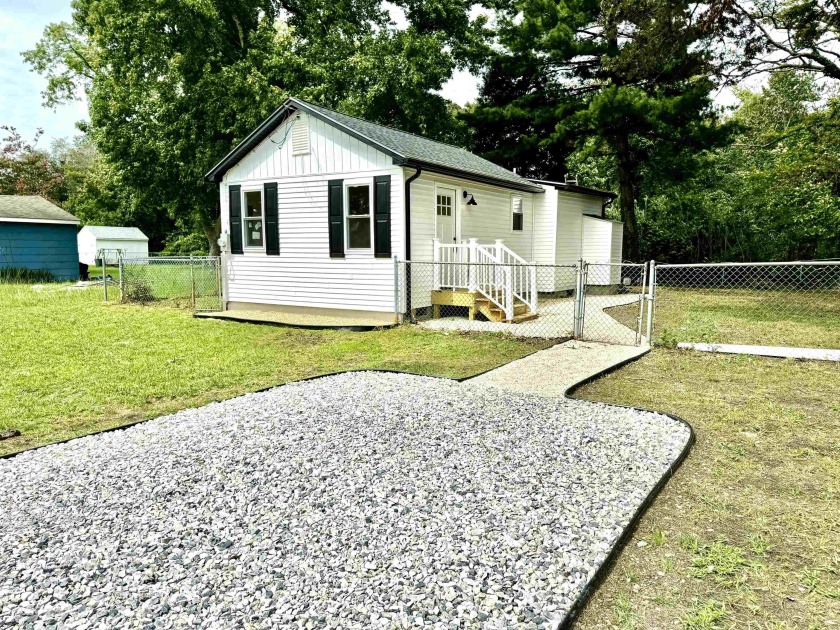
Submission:
[[[654,343],[840,348],[840,261],[656,265]]]

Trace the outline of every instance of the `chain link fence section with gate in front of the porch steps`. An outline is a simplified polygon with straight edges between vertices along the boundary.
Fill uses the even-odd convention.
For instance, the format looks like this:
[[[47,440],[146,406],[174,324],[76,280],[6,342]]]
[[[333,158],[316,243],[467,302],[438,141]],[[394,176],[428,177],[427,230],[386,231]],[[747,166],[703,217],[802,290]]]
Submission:
[[[645,265],[395,264],[397,315],[423,328],[643,342]]]

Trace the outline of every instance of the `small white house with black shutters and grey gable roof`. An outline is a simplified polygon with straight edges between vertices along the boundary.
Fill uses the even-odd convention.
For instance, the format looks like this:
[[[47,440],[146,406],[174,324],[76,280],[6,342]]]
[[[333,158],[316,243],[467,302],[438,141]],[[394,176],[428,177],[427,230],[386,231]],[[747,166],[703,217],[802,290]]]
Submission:
[[[394,258],[575,263],[584,216],[603,216],[614,197],[530,181],[459,147],[295,98],[206,178],[219,184],[227,308],[383,323],[393,321]],[[541,282],[541,292],[571,288]],[[410,308],[431,304],[441,288],[433,283],[440,278],[414,266]]]

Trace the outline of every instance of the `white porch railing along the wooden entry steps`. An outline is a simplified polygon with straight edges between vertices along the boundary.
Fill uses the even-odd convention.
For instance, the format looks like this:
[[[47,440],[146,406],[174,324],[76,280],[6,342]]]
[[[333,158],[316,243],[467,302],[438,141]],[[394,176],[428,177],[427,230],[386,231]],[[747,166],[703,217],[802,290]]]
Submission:
[[[533,313],[537,310],[537,268],[501,240],[493,245],[479,245],[471,238],[466,243],[442,244],[434,241],[434,288],[477,291],[513,319],[518,299]]]

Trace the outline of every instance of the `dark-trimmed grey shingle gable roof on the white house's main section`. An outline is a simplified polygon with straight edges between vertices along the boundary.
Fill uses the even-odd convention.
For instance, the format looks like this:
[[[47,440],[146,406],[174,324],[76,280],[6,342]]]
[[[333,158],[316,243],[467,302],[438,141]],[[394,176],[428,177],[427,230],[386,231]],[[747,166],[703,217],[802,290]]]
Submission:
[[[422,136],[378,125],[376,123],[348,116],[332,109],[308,103],[299,98],[290,98],[271,116],[265,119],[251,134],[228,153],[205,177],[221,181],[222,176],[260,142],[265,140],[278,126],[296,111],[306,112],[320,118],[350,136],[361,140],[394,159],[394,164],[420,167],[424,170],[444,173],[515,190],[544,192],[527,179],[513,171],[478,157],[466,149],[451,144],[429,140]]]

